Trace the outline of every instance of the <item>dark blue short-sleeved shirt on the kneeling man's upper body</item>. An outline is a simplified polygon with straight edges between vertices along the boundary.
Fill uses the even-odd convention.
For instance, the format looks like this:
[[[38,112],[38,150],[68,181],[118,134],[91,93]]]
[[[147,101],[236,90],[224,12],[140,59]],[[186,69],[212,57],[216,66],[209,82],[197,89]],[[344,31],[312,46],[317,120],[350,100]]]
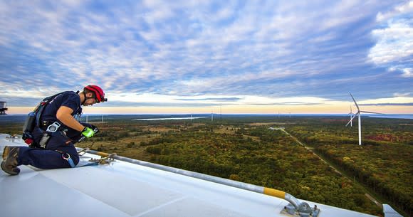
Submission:
[[[41,120],[58,121],[56,113],[61,106],[70,107],[73,110],[72,116],[82,114],[82,107],[80,107],[80,96],[73,91],[62,92],[57,95],[51,102],[46,105],[41,115]]]

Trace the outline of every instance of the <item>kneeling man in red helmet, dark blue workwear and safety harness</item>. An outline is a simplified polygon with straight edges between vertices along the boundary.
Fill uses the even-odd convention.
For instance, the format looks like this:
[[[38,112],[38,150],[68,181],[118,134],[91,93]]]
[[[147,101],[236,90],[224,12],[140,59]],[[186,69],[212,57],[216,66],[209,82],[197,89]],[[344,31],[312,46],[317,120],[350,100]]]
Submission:
[[[82,107],[106,102],[105,92],[97,85],[88,85],[82,92],[61,92],[44,105],[41,117],[31,132],[33,147],[4,147],[1,169],[10,175],[17,175],[23,165],[39,169],[75,167],[79,155],[74,144],[82,137],[93,137],[97,127],[78,122]]]

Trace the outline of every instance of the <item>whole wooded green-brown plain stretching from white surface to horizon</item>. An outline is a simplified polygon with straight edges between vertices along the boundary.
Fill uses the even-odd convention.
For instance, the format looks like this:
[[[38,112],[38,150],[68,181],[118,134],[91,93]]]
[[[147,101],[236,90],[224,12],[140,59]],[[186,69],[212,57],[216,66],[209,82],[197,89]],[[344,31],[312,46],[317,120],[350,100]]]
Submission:
[[[382,216],[373,197],[412,216],[413,120],[363,117],[360,147],[357,127],[345,127],[347,117],[134,120],[150,117],[108,116],[103,123],[89,117],[101,132],[77,146]],[[2,133],[21,133],[22,120],[0,118],[0,123]]]

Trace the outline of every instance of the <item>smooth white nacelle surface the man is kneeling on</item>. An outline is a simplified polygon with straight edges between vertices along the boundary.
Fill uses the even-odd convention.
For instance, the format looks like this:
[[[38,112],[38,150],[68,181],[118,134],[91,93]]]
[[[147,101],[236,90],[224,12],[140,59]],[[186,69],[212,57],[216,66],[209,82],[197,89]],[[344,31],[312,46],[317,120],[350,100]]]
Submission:
[[[21,139],[0,134],[4,146],[24,146]],[[85,154],[80,164],[93,157]],[[288,204],[252,191],[115,160],[74,169],[19,166],[18,176],[0,171],[1,216],[288,216]],[[303,200],[300,200],[303,201]],[[319,217],[370,216],[306,201],[320,208]]]

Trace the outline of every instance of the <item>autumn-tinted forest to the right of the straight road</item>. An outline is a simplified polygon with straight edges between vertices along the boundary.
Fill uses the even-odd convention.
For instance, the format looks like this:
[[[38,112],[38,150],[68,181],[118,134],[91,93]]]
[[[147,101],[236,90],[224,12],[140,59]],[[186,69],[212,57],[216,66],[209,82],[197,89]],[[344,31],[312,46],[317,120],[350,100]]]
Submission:
[[[363,117],[362,146],[357,145],[357,126],[343,129],[346,122],[308,119],[290,132],[404,216],[412,216],[413,121]]]

